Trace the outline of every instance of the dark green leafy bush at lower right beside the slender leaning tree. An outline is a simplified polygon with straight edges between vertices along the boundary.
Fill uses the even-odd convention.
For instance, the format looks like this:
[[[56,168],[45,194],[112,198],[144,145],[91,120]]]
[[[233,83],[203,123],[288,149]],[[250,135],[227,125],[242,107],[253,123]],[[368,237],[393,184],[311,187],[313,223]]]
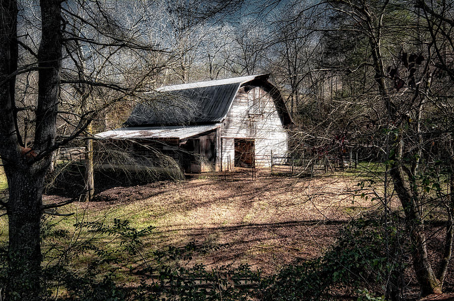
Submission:
[[[392,253],[385,253],[386,238]],[[270,278],[264,299],[330,299],[335,290],[353,296],[361,289],[361,300],[384,300],[364,287],[382,292],[387,281],[399,281],[407,264],[396,254],[402,252],[395,248],[398,242],[402,244],[399,232],[383,229],[379,215],[352,220],[322,257],[288,266]]]

